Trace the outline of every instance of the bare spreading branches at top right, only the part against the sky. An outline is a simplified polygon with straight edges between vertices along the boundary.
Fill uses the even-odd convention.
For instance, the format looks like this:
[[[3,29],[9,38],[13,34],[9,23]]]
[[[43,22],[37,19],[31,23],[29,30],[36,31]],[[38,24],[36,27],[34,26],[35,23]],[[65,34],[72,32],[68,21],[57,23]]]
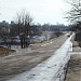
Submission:
[[[71,10],[67,12],[67,17],[70,23],[81,22],[81,0],[67,0]]]

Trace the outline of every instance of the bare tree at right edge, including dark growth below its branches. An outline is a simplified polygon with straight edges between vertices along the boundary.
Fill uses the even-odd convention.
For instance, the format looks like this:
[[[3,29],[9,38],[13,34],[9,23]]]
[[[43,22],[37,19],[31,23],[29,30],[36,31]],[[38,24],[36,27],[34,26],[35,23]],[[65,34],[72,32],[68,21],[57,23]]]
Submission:
[[[75,40],[81,46],[81,0],[69,0],[71,10],[67,13],[67,18],[73,24],[71,27],[76,30]]]

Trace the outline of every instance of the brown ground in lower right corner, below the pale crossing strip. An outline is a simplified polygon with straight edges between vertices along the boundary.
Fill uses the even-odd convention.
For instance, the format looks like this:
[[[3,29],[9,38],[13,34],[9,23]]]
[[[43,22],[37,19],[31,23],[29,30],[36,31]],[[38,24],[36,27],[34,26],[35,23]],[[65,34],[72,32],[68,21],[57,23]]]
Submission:
[[[75,54],[71,55],[66,81],[81,81],[81,55]]]

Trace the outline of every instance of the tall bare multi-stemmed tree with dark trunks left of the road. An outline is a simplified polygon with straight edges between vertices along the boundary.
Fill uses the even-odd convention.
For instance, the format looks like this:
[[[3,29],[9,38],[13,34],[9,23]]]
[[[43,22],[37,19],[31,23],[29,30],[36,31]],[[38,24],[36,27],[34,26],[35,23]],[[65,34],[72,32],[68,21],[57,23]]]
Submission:
[[[22,49],[28,46],[29,44],[29,33],[30,33],[30,25],[32,23],[32,17],[23,10],[21,13],[17,13],[16,18],[18,35],[21,37]]]

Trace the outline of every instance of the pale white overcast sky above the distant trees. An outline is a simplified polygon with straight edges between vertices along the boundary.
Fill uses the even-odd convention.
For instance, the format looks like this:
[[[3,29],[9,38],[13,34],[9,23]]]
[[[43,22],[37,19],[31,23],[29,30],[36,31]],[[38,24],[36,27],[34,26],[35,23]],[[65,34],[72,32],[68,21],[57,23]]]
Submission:
[[[68,8],[65,0],[0,0],[0,21],[10,22],[24,9],[36,24],[67,24],[64,17]]]

